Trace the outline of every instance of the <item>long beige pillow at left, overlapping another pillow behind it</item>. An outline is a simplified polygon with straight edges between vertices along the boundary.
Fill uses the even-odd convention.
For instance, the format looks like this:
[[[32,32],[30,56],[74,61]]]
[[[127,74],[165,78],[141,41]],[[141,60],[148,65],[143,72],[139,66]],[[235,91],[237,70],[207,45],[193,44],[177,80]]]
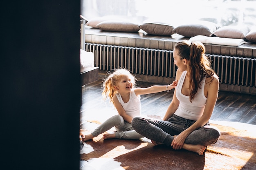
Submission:
[[[106,20],[97,24],[102,31],[138,32],[139,24],[123,20]]]

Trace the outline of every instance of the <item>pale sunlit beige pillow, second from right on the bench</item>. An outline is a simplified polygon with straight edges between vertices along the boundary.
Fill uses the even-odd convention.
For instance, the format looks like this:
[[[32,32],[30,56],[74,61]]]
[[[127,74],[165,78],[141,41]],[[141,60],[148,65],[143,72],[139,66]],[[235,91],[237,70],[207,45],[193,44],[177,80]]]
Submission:
[[[213,32],[214,35],[223,38],[239,38],[244,39],[245,35],[249,32],[249,28],[247,26],[222,26],[216,31]]]

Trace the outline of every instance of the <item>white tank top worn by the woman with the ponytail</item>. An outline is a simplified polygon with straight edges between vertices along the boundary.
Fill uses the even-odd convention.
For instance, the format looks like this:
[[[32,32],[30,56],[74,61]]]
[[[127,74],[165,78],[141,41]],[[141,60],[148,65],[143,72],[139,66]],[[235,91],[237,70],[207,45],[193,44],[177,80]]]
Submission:
[[[182,73],[176,87],[176,97],[180,101],[180,104],[174,114],[185,119],[196,121],[202,116],[207,100],[207,98],[204,96],[205,77],[202,80],[201,88],[198,88],[194,99],[192,102],[190,102],[189,96],[183,95],[181,93],[186,73],[186,71]]]

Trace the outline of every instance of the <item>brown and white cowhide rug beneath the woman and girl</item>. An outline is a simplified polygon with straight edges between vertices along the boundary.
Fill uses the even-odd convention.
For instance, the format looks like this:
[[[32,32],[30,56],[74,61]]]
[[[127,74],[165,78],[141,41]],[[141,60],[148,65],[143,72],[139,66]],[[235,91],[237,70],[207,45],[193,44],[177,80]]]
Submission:
[[[97,123],[94,121],[91,124]],[[150,140],[103,140],[103,135],[84,142],[84,170],[256,170],[256,126],[212,121],[221,137],[200,156],[187,150],[153,146]],[[90,130],[81,130],[88,133]]]

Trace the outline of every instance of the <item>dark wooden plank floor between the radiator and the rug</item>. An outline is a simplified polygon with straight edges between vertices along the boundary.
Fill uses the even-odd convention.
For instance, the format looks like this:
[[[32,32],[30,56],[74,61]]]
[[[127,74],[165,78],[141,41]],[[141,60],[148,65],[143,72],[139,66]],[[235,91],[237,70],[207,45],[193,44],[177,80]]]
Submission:
[[[105,102],[101,96],[102,79],[82,87],[82,106],[80,127],[85,128],[86,121],[97,119],[104,121],[116,110],[109,100]],[[137,81],[138,87],[154,85]],[[163,117],[173,97],[173,91],[141,95],[141,110],[143,115]],[[210,120],[233,121],[256,125],[256,95],[247,95],[220,91],[218,100]]]

